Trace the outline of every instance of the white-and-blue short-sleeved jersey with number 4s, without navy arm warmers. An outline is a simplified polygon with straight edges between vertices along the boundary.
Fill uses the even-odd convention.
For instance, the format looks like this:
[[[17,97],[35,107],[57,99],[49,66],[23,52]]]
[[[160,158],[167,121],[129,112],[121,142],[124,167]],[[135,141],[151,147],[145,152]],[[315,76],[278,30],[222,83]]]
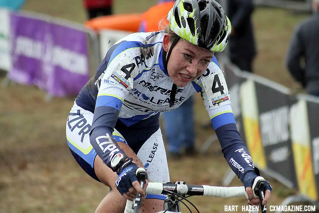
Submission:
[[[169,107],[173,81],[164,69],[162,40],[163,34],[156,32],[135,33],[118,41],[117,48],[109,56],[107,68],[100,70],[102,72],[94,82],[98,94],[87,95],[120,99],[123,105],[119,118],[126,124],[174,110],[198,92],[202,94],[211,118],[232,112],[226,81],[215,57],[202,76],[186,87],[177,88],[175,104]]]

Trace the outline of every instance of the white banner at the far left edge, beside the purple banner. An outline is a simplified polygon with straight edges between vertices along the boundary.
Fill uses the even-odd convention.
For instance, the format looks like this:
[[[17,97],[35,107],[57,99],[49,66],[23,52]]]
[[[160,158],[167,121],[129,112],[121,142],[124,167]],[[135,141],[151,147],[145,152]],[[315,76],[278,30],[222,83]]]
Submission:
[[[10,12],[0,8],[0,69],[11,69],[10,57]]]

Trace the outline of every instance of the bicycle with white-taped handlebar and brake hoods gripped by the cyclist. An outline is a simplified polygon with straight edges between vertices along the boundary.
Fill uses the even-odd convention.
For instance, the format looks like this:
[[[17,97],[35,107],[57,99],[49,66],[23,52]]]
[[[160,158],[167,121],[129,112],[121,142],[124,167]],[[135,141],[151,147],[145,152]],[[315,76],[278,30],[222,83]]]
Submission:
[[[191,209],[186,205],[188,202],[191,206],[196,209],[198,213],[199,210],[196,206],[190,202],[187,198],[190,196],[212,196],[212,197],[242,197],[247,196],[244,186],[231,186],[231,187],[222,187],[222,186],[207,186],[207,185],[186,185],[185,182],[177,181],[174,183],[158,183],[158,182],[149,182],[147,187],[146,184],[146,172],[144,168],[138,168],[136,171],[137,179],[141,185],[141,188],[145,189],[146,194],[164,194],[166,195],[166,200],[164,202],[163,211],[157,213],[181,213],[180,203],[183,203],[186,208],[190,211]],[[265,180],[262,177],[255,179],[253,185],[254,198],[260,199],[261,211],[262,213],[267,212],[266,205],[262,205],[264,198],[264,186]],[[186,196],[188,195],[188,196]],[[132,201],[127,200],[124,213],[138,213],[141,205],[141,195],[137,193],[136,198]],[[249,211],[249,213],[258,213],[258,211]]]

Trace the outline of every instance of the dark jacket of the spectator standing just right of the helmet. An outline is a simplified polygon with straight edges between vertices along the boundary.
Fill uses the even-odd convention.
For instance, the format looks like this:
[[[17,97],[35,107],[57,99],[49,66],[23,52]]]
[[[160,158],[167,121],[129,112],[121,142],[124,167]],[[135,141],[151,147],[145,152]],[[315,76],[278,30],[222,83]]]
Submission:
[[[227,4],[228,18],[232,24],[232,33],[228,43],[230,58],[240,58],[243,55],[253,58],[256,55],[251,23],[254,4],[252,0],[227,0]]]

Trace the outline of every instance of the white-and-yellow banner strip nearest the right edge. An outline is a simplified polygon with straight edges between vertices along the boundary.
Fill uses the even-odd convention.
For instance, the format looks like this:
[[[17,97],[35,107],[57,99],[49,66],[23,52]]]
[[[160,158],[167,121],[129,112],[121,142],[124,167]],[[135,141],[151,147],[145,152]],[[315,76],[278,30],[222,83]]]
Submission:
[[[316,118],[315,116],[314,118]],[[314,118],[310,118],[311,120]],[[293,157],[300,194],[318,200],[311,155],[307,102],[299,100],[290,110]],[[318,123],[315,124],[317,126]]]

